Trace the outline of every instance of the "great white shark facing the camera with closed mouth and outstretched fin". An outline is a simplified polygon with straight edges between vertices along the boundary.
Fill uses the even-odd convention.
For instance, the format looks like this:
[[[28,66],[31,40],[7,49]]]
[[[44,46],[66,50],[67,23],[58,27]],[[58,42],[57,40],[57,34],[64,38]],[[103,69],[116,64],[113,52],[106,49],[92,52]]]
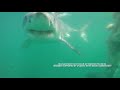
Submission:
[[[39,41],[62,41],[71,50],[80,55],[80,51],[71,45],[66,38],[71,32],[80,32],[65,24],[60,17],[69,15],[67,13],[56,12],[29,12],[24,16],[23,27],[27,34],[27,39],[23,47],[29,47],[33,40]],[[85,26],[85,28],[87,28]],[[84,28],[84,29],[85,29]],[[83,34],[83,29],[82,33]]]

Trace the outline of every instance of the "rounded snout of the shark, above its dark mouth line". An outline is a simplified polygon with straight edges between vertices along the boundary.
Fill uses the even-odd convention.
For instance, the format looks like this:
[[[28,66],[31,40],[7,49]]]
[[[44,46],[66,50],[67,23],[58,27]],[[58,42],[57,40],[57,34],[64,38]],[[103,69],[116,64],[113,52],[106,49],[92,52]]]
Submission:
[[[31,12],[24,17],[24,27],[34,30],[54,30],[51,15],[46,12]]]

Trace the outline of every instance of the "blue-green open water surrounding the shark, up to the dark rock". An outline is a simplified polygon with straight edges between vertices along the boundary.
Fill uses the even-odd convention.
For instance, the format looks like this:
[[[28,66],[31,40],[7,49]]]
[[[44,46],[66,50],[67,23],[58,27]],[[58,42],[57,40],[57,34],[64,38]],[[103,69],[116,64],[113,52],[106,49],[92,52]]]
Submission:
[[[111,12],[70,12],[62,20],[71,27],[87,28],[89,42],[79,33],[72,33],[69,42],[78,48],[81,56],[64,43],[33,43],[21,48],[25,40],[22,28],[27,12],[0,12],[0,77],[7,78],[85,78],[89,72],[103,72],[104,68],[55,68],[57,63],[105,63],[108,60],[106,26],[112,22]]]

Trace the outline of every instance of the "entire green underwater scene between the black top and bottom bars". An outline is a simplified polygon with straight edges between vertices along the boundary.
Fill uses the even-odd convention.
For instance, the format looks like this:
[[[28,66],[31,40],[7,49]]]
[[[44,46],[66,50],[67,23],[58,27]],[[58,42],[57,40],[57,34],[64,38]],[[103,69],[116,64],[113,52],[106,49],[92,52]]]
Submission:
[[[0,12],[0,78],[120,78],[119,12]]]

